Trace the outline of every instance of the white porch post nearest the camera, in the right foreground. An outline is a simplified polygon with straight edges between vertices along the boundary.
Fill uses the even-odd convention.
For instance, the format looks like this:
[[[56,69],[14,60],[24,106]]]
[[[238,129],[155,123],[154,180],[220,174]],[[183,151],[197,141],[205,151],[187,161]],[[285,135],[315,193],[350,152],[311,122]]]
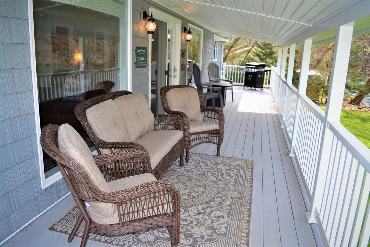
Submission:
[[[316,223],[316,213],[322,203],[326,171],[329,165],[331,141],[333,133],[327,128],[330,122],[339,123],[340,113],[342,111],[344,87],[346,86],[347,69],[351,51],[351,41],[353,35],[353,24],[340,26],[337,28],[335,39],[332,73],[330,75],[330,85],[328,100],[326,105],[323,132],[320,143],[319,158],[316,169],[316,179],[313,185],[312,199],[310,202],[310,211],[306,217],[309,223]]]

